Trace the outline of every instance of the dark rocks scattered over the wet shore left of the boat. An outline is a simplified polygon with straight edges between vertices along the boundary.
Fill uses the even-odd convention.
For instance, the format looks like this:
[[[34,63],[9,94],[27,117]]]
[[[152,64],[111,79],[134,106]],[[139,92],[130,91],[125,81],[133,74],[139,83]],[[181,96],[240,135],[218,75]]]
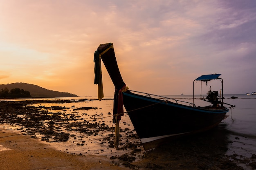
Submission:
[[[84,102],[85,100],[79,100],[77,102]],[[86,99],[87,101],[87,99]],[[22,126],[18,130],[27,133],[26,135],[35,137],[36,133],[40,133],[44,135],[40,137],[42,141],[47,142],[66,142],[73,137],[76,140],[77,146],[84,146],[85,140],[80,141],[80,137],[76,137],[76,135],[67,133],[67,132],[80,132],[85,136],[99,136],[102,131],[104,133],[108,131],[112,131],[113,128],[109,127],[104,123],[104,121],[96,122],[95,120],[101,117],[102,113],[95,113],[94,115],[88,116],[87,113],[83,113],[83,116],[88,116],[92,121],[81,121],[81,123],[72,123],[79,119],[82,119],[80,115],[75,112],[63,112],[69,108],[63,106],[33,106],[37,103],[65,103],[65,102],[75,102],[75,101],[38,101],[38,100],[28,100],[21,102],[8,102],[1,101],[0,102],[0,123],[9,123],[9,124],[18,124]],[[76,108],[75,106],[71,106],[72,110],[89,110],[89,109],[97,109],[97,107],[80,107]],[[60,110],[58,112],[58,110]],[[111,114],[111,113],[107,113]],[[94,120],[95,119],[95,120]],[[70,123],[71,122],[71,123]],[[24,127],[24,128],[23,128]],[[67,132],[63,132],[63,130]],[[128,128],[120,129],[121,132],[127,132],[129,134],[128,138],[137,138],[137,135],[132,134]],[[109,143],[109,148],[115,148],[114,142],[110,139],[114,137],[114,134],[111,133],[107,135],[108,137],[103,137],[102,141],[99,143],[104,145]],[[120,137],[122,135],[120,134]],[[77,139],[79,138],[79,140]],[[136,149],[140,144],[131,144],[128,141],[126,143],[122,142],[122,150],[126,150],[127,148]],[[103,152],[103,150],[101,150]],[[139,152],[139,150],[137,150]]]

